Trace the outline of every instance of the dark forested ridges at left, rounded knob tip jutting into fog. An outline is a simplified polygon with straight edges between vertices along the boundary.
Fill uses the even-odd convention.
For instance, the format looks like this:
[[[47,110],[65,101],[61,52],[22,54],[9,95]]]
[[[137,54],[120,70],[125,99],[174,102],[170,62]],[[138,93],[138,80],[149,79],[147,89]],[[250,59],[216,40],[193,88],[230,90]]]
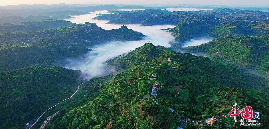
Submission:
[[[29,66],[62,66],[79,58],[89,46],[108,41],[141,40],[145,35],[122,26],[104,30],[95,23],[73,24],[51,30],[0,34],[0,71]]]

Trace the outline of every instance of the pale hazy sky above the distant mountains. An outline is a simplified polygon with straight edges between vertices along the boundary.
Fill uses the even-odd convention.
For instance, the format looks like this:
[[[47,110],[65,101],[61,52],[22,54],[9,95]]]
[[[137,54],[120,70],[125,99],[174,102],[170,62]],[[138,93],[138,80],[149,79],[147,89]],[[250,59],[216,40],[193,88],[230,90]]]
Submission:
[[[18,4],[194,4],[194,5],[233,5],[233,6],[267,6],[268,0],[0,0],[0,5]]]

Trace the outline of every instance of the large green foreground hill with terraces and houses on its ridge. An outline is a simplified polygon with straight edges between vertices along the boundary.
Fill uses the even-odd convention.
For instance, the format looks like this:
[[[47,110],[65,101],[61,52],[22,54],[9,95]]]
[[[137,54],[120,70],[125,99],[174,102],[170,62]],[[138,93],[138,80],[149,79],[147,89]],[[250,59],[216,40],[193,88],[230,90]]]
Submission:
[[[256,77],[259,81],[252,82],[238,70],[207,57],[177,53],[153,44],[144,44],[108,63],[117,64],[119,67],[116,69],[126,71],[116,75],[103,89],[102,95],[58,116],[48,128],[175,129],[180,124],[180,118],[175,113],[181,114],[183,119],[188,116],[200,121],[227,114],[231,110],[230,105],[235,102],[241,107],[252,106],[260,111],[262,116],[259,122],[267,127],[268,95],[262,91],[242,89],[268,86],[265,79]],[[150,96],[155,84],[149,79],[151,74],[156,75],[155,81],[161,85],[158,85],[156,98]],[[218,106],[218,103],[223,105]],[[175,113],[169,108],[173,108]],[[227,123],[218,120],[212,127],[205,126],[227,128],[224,122]],[[231,121],[230,125],[236,128],[237,124]],[[191,124],[186,126],[197,128]]]

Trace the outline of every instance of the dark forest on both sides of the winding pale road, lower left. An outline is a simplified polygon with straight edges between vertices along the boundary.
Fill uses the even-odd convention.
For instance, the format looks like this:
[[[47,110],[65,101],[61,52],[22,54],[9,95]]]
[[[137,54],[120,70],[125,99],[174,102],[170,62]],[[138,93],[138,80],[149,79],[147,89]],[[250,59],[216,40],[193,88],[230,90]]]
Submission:
[[[83,81],[85,76],[81,75],[81,71],[77,70],[42,66],[0,72],[0,128],[22,129],[25,123],[35,121],[46,109],[70,97],[77,90],[78,83]],[[41,120],[58,111],[60,116],[96,98],[113,80],[112,77],[108,75],[88,80],[80,85],[79,92],[73,98],[48,110]],[[37,124],[40,125],[41,120]]]

